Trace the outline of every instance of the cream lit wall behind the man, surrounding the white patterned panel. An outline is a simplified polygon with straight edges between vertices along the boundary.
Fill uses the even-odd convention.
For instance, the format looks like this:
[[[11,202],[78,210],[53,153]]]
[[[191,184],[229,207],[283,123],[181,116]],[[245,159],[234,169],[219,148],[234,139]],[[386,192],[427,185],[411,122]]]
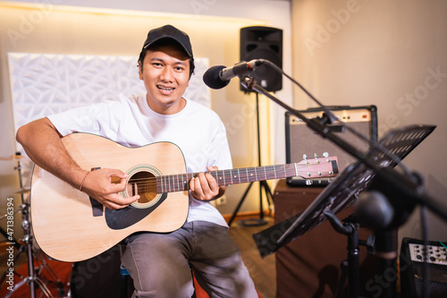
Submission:
[[[48,0],[0,1],[0,6],[0,157],[12,156],[16,150],[8,52],[138,55],[148,30],[169,22],[190,34],[196,56],[208,57],[210,65],[230,66],[240,60],[240,28],[265,25],[283,30],[283,65],[291,73],[290,1]],[[291,84],[283,81],[283,90],[276,95],[291,104]],[[263,163],[283,163],[283,109],[266,98],[260,100]],[[240,92],[237,80],[212,91],[212,108],[227,127],[235,167],[257,166],[254,104],[254,95]],[[19,189],[15,165],[16,161],[0,161],[1,212],[7,197],[20,200],[14,193]],[[228,204],[220,207],[223,214],[232,213],[247,186],[228,189]],[[257,206],[254,187],[240,211],[257,210]],[[20,217],[16,221],[20,224]],[[20,233],[20,226],[16,230]]]

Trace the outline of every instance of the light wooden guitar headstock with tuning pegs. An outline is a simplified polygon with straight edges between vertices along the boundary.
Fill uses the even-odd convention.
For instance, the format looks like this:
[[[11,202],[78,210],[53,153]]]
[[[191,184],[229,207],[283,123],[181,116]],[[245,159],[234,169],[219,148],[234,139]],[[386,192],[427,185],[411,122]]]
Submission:
[[[308,159],[306,154],[303,155],[304,159],[298,163],[298,176],[304,179],[318,179],[335,177],[338,174],[337,157],[329,157],[327,152],[323,154],[323,158],[318,158],[316,154],[314,157],[313,159]],[[307,184],[311,184],[311,182]]]

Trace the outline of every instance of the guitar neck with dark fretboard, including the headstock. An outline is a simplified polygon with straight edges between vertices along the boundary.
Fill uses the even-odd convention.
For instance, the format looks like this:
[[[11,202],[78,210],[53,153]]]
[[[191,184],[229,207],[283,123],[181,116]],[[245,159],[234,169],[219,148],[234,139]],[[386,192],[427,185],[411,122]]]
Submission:
[[[328,158],[325,164],[309,164],[299,162],[275,166],[241,167],[229,170],[208,172],[215,177],[218,185],[232,185],[239,183],[251,183],[270,179],[283,179],[293,176],[303,178],[329,177],[338,173],[337,159]],[[183,192],[190,190],[190,179],[198,173],[163,175],[156,177],[156,190],[163,192]]]

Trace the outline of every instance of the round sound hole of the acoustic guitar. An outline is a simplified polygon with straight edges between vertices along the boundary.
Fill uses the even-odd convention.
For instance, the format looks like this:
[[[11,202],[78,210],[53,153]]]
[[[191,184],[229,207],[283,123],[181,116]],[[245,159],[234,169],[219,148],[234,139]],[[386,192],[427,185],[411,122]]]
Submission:
[[[131,176],[127,184],[129,196],[139,194],[139,203],[148,203],[156,198],[156,176],[149,172],[139,172]]]

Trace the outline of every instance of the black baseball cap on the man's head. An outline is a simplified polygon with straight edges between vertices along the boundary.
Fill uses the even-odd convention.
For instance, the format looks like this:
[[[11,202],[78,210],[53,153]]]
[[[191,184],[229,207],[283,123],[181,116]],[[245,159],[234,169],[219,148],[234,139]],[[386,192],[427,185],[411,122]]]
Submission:
[[[164,38],[171,38],[175,40],[181,45],[181,47],[183,47],[186,54],[190,58],[193,57],[190,37],[185,32],[173,27],[173,25],[164,25],[163,27],[150,30],[148,33],[148,38],[146,38],[146,41],[144,42],[143,49],[147,49],[148,47],[154,45],[157,41]]]

